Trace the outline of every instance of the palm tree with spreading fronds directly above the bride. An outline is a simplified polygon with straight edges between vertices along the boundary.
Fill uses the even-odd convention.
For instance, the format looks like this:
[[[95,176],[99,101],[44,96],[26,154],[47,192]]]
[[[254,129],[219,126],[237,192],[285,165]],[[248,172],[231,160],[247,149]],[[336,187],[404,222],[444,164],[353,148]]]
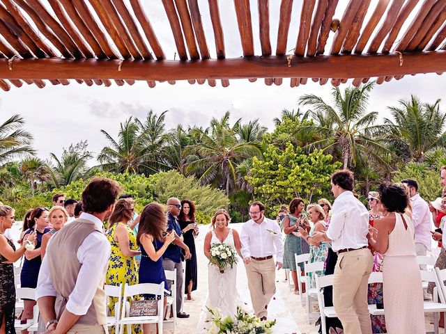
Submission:
[[[213,118],[210,128],[194,129],[193,137],[198,138],[197,143],[185,149],[185,154],[191,154],[187,172],[195,173],[197,177],[200,175],[201,184],[225,189],[227,196],[236,186],[237,165],[254,155],[261,156],[259,141],[244,141],[238,136],[239,123],[240,119],[232,127],[229,125],[229,112],[220,120]]]

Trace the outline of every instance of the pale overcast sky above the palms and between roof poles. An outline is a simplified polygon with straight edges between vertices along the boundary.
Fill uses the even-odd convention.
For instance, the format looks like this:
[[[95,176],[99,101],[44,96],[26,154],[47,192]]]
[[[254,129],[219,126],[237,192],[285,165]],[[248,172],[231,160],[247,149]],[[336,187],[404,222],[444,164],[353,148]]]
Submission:
[[[127,0],[125,0],[127,1]],[[149,19],[161,42],[167,58],[173,58],[175,47],[167,17],[160,5],[161,1],[141,1],[146,5]],[[256,1],[252,2],[252,17],[256,54],[260,54],[259,29],[256,20]],[[270,31],[272,47],[275,49],[278,26],[278,0],[270,1]],[[341,18],[341,11],[348,1],[339,1],[335,17]],[[371,8],[377,0],[371,1]],[[150,6],[147,5],[150,3]],[[208,19],[208,1],[199,0],[205,26],[206,39],[211,56],[215,57],[213,31]],[[298,19],[302,1],[295,1],[289,34],[289,48],[295,45],[298,33]],[[237,31],[236,17],[233,12],[233,1],[220,1],[222,22],[226,42],[226,56],[241,55],[240,38]],[[417,8],[415,8],[416,10]],[[367,22],[367,17],[366,17]],[[330,35],[332,36],[332,35]],[[328,46],[329,47],[329,46]],[[341,88],[348,84],[341,85]],[[376,88],[371,93],[369,111],[379,111],[381,117],[388,116],[386,106],[397,105],[400,99],[407,100],[415,94],[423,102],[434,102],[440,98],[445,100],[445,75],[419,74],[406,76],[399,81],[392,80]],[[197,125],[206,127],[213,117],[221,117],[231,111],[231,119],[243,118],[245,122],[259,118],[261,124],[273,127],[272,119],[279,117],[282,109],[297,109],[298,97],[308,93],[320,95],[330,102],[332,86],[319,86],[311,80],[305,86],[289,87],[289,79],[284,79],[282,86],[266,86],[263,79],[255,83],[247,80],[231,80],[228,88],[220,82],[215,88],[208,84],[188,84],[177,81],[175,85],[159,84],[149,88],[145,82],[137,82],[133,86],[112,87],[79,85],[75,81],[69,86],[52,86],[47,83],[43,89],[24,84],[22,88],[11,88],[8,93],[0,95],[0,122],[15,113],[26,120],[26,129],[34,136],[33,146],[38,156],[47,159],[49,152],[61,154],[62,148],[82,140],[89,142],[89,150],[98,154],[107,145],[100,129],[109,132],[116,138],[119,123],[130,116],[145,118],[153,109],[156,113],[167,110],[167,128],[178,123],[185,126]],[[441,107],[446,109],[445,102]]]

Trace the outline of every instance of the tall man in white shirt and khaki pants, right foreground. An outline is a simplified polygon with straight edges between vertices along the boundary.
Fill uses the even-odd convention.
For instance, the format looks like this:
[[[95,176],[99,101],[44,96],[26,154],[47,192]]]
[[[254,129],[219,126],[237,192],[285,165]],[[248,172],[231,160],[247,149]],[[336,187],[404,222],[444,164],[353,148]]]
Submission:
[[[315,232],[314,241],[329,241],[337,252],[333,277],[333,306],[345,334],[371,334],[367,287],[373,257],[367,248],[369,212],[353,195],[353,173],[339,170],[332,175],[336,200],[327,232]],[[407,319],[410,321],[410,319]]]

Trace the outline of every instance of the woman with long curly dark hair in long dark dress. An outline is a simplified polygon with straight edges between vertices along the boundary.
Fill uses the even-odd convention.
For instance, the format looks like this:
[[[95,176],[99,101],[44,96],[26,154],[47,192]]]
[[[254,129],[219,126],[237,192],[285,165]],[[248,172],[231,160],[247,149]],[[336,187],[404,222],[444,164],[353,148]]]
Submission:
[[[189,247],[192,257],[186,260],[184,288],[187,300],[192,301],[192,291],[197,289],[197,250],[195,238],[198,236],[198,225],[195,221],[195,205],[191,200],[181,200],[181,211],[178,223],[183,231],[184,243]]]

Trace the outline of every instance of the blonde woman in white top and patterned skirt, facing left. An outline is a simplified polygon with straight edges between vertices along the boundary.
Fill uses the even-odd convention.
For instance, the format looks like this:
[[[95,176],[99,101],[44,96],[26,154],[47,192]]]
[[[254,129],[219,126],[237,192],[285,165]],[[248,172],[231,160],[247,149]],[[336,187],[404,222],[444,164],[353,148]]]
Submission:
[[[309,239],[312,237],[314,232],[325,232],[327,228],[325,227],[325,212],[321,205],[310,204],[307,207],[307,212],[309,220],[313,223],[312,229],[307,233],[307,230],[299,228],[302,238],[309,244],[309,263],[313,262],[325,262],[327,258],[328,248],[330,244],[328,242],[319,242]],[[316,276],[322,276],[323,271],[316,271],[315,273],[309,273],[310,287],[316,287]]]

